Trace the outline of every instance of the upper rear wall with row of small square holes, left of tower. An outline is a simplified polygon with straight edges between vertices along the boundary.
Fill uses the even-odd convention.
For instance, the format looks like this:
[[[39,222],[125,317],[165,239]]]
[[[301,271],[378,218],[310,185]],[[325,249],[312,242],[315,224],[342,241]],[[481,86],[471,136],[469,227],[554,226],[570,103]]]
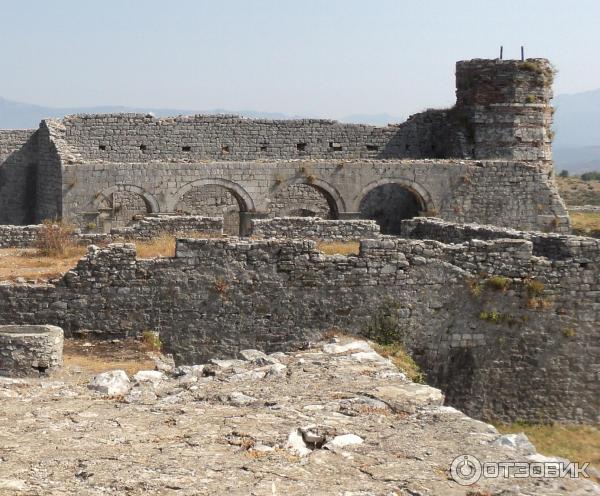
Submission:
[[[302,158],[423,158],[454,156],[436,138],[446,113],[427,111],[387,127],[332,120],[267,120],[195,115],[72,115],[63,120],[65,141],[85,160],[197,162]],[[437,148],[436,148],[437,146]]]

